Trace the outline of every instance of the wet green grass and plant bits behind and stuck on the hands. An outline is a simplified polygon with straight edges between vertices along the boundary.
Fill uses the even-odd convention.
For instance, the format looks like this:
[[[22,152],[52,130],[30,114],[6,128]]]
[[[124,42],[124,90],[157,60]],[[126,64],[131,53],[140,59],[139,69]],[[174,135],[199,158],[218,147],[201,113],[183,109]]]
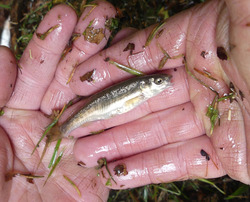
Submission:
[[[112,30],[114,35],[123,27],[128,26],[135,27],[137,29],[143,29],[155,23],[158,23],[160,26],[160,22],[163,19],[166,19],[184,9],[204,1],[205,0],[109,0],[109,2],[111,2],[117,8],[117,18],[108,21],[106,27]],[[0,31],[2,29],[4,18],[11,14],[13,27],[11,30],[11,48],[14,51],[17,59],[21,57],[23,50],[27,46],[43,16],[53,6],[59,3],[66,3],[70,5],[76,10],[77,14],[80,15],[84,7],[86,7],[88,4],[91,4],[91,1],[6,0],[4,3],[0,3]],[[89,27],[89,30],[85,31],[86,33],[93,32],[93,30],[91,30],[91,26]],[[95,32],[95,35],[100,38],[102,37],[100,33],[101,32]],[[41,37],[43,36],[44,35],[41,35]],[[150,39],[148,43],[150,43]],[[133,48],[130,47],[128,50],[133,51]],[[166,60],[170,58],[167,53],[164,54],[165,57],[162,59],[163,65]],[[205,52],[203,52],[202,55],[205,57]],[[227,55],[222,48],[218,49],[218,57],[222,60],[227,59]],[[118,68],[121,68],[121,65],[119,66],[118,64],[114,63],[115,61],[109,60],[109,62],[113,62],[114,65],[117,65]],[[160,65],[159,69],[161,69],[161,66],[163,65]],[[131,71],[131,69],[129,69],[129,71]],[[205,75],[204,72],[198,73]],[[87,77],[87,79],[89,77]],[[219,102],[220,100],[218,99],[220,98],[217,98],[215,101]],[[214,109],[214,107],[212,109]],[[0,109],[0,115],[3,113],[4,112]],[[208,116],[213,118],[215,116],[214,114],[216,115],[217,112],[214,113],[213,110],[210,110]],[[213,120],[212,118],[211,120]],[[215,117],[215,122],[216,121],[217,117]],[[60,142],[58,145],[60,145]],[[201,155],[207,160],[210,159],[205,151],[201,151]],[[50,163],[51,170],[54,170],[56,165],[60,162],[63,156],[63,151],[58,155],[58,157],[57,154],[53,156],[54,158]],[[124,169],[124,166],[122,167],[120,165],[120,167],[116,168],[116,173],[124,173]],[[11,178],[16,176],[24,176],[27,179],[32,180],[33,178],[40,178],[40,176],[34,176],[31,174],[25,175],[15,173],[13,175],[11,174],[10,176]],[[64,176],[64,178],[74,186],[74,182],[72,182],[67,176]],[[80,195],[80,190],[78,190],[77,187],[76,191]],[[187,180],[174,183],[147,185],[136,189],[118,191],[112,190],[110,192],[109,201],[249,201],[249,198],[250,193],[248,185],[244,185],[240,182],[232,180],[228,176],[225,176],[211,180]]]

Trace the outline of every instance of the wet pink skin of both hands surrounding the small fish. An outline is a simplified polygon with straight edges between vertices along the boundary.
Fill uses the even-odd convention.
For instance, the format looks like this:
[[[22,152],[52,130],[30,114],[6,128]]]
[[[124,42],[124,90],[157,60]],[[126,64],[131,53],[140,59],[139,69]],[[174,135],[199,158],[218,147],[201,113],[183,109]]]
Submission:
[[[75,13],[66,6],[51,10],[38,32],[42,33],[58,23],[58,14],[61,15],[61,29],[52,32],[44,41],[34,36],[20,61],[22,74],[18,72],[13,95],[9,99],[13,88],[6,87],[0,95],[1,106],[7,106],[4,116],[0,118],[3,128],[0,136],[0,183],[3,189],[0,195],[14,201],[106,200],[108,188],[104,184],[107,179],[96,177],[94,169],[77,166],[77,162],[82,161],[87,167],[92,167],[100,157],[106,157],[108,161],[117,160],[108,164],[113,175],[113,169],[118,164],[126,165],[128,174],[114,175],[117,185],[113,183],[112,188],[115,189],[188,178],[214,178],[225,174],[249,184],[250,82],[247,78],[250,72],[247,64],[250,58],[250,3],[232,0],[226,3],[227,7],[222,1],[210,1],[172,17],[164,25],[162,35],[146,48],[143,45],[153,27],[129,36],[88,60],[89,56],[103,48],[105,41],[96,45],[81,38],[75,41],[73,50],[61,62],[61,52],[77,20]],[[101,10],[105,15],[115,15],[113,8],[109,12],[108,9],[110,6]],[[96,11],[92,15],[98,13],[101,12]],[[79,21],[75,29],[83,32],[84,26],[88,26],[93,16],[88,18],[88,22]],[[100,18],[102,20],[97,22],[103,26],[106,18],[103,15]],[[210,72],[218,81],[206,78],[204,81],[221,95],[229,92],[229,81],[244,94],[243,100],[239,96],[237,102],[219,104],[221,124],[215,127],[210,138],[206,135],[210,132],[210,122],[205,114],[214,93],[187,76],[182,59],[169,60],[163,72],[173,76],[172,87],[119,118],[99,121],[73,131],[71,135],[82,137],[92,131],[113,127],[98,136],[79,139],[75,145],[71,140],[64,140],[62,144],[67,145],[64,159],[45,187],[42,186],[45,179],[35,180],[35,185],[28,184],[20,177],[5,182],[4,175],[11,169],[48,174],[47,165],[53,147],[47,152],[39,169],[36,169],[36,164],[43,145],[30,156],[44,127],[50,122],[44,114],[51,114],[53,108],[61,108],[76,94],[90,95],[131,77],[105,62],[106,57],[123,64],[129,61],[132,67],[145,73],[157,71],[157,65],[163,57],[157,41],[170,56],[185,54],[191,70],[196,67]],[[133,52],[137,54],[123,52],[128,43],[135,44]],[[217,47],[226,49],[228,60],[221,60],[217,56]],[[1,74],[0,80],[5,78],[11,86],[15,81],[14,58],[8,50],[1,48],[0,51],[1,68],[5,72],[10,71],[7,76]],[[205,58],[201,55],[203,51],[207,53]],[[66,85],[72,66],[81,62],[70,85]],[[81,82],[79,77],[94,68],[95,82]],[[65,113],[62,121],[67,115]],[[209,154],[216,166],[201,155],[201,150]],[[65,173],[77,184],[84,197],[79,199],[73,187],[65,183],[62,176]],[[108,176],[105,169],[104,175]],[[64,186],[61,187],[61,184]]]

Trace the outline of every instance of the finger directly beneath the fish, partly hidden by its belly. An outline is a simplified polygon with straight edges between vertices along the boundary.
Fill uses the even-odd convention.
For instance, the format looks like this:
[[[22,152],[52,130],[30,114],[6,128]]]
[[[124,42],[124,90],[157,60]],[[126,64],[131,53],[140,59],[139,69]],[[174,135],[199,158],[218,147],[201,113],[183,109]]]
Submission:
[[[112,117],[110,119],[89,123],[88,125],[77,128],[70,134],[70,136],[82,137],[91,132],[121,125],[123,123],[127,123],[140,117],[146,116],[149,113],[188,102],[188,86],[187,83],[183,82],[183,80],[186,79],[184,68],[180,67],[176,68],[175,70],[167,70],[164,71],[164,73],[168,73],[173,76],[173,79],[171,80],[172,85],[165,91],[149,99],[130,112]],[[84,106],[84,104],[82,105]],[[74,111],[74,109],[79,109],[79,106],[72,106],[67,111],[65,111],[60,121],[64,122],[72,114],[72,111]]]

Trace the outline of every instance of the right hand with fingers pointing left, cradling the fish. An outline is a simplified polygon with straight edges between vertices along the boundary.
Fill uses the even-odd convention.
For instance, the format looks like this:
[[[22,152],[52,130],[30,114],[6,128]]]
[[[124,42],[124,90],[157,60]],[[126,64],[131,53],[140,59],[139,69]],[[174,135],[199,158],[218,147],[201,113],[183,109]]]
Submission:
[[[214,0],[201,4],[168,19],[148,47],[144,45],[153,27],[85,61],[70,83],[76,94],[89,95],[131,76],[106,62],[107,57],[125,65],[129,62],[145,73],[155,72],[164,57],[160,44],[170,56],[184,54],[189,70],[220,97],[230,92],[230,81],[234,84],[236,100],[219,102],[220,125],[217,121],[212,135],[206,112],[215,93],[187,75],[181,58],[172,59],[163,67],[173,76],[172,87],[129,113],[72,132],[80,137],[112,127],[77,140],[76,159],[92,167],[105,157],[117,182],[111,181],[114,189],[226,174],[249,184],[249,9],[249,1]],[[135,44],[131,55],[124,51],[129,43]],[[206,70],[217,81],[194,68]],[[94,82],[82,83],[79,77],[93,69]],[[128,173],[123,175],[124,166]],[[121,175],[114,169],[120,169]],[[107,179],[104,169],[102,182],[105,184]]]

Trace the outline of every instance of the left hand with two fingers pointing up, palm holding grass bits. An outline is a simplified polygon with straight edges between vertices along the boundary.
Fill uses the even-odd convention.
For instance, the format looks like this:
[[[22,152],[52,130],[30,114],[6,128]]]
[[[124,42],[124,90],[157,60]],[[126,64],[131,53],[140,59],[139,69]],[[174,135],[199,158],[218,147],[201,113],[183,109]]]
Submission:
[[[51,178],[43,186],[49,169],[48,163],[53,153],[53,145],[37,168],[44,144],[31,155],[44,128],[51,122],[47,115],[52,109],[60,109],[75,94],[67,85],[74,66],[101,50],[109,37],[105,29],[106,20],[114,17],[115,9],[107,2],[98,2],[98,6],[86,17],[91,7],[86,8],[77,22],[73,9],[65,5],[54,7],[41,22],[36,33],[46,33],[48,29],[59,25],[44,40],[36,34],[30,41],[17,69],[11,52],[0,47],[0,108],[4,115],[0,117],[0,196],[1,201],[104,201],[109,190],[97,177],[95,169],[82,168],[74,161],[72,140],[63,140],[61,148],[66,150],[63,159]],[[100,43],[88,42],[81,33],[93,21],[94,31],[104,33]],[[60,61],[62,51],[73,32],[80,33],[74,41],[72,50]],[[15,85],[15,88],[14,88]],[[13,92],[14,89],[14,92]],[[11,93],[12,97],[10,98]],[[34,179],[34,184],[26,182],[21,176],[6,181],[6,174],[12,172],[44,175],[44,179]],[[79,197],[73,186],[63,175],[70,178],[81,191]]]

